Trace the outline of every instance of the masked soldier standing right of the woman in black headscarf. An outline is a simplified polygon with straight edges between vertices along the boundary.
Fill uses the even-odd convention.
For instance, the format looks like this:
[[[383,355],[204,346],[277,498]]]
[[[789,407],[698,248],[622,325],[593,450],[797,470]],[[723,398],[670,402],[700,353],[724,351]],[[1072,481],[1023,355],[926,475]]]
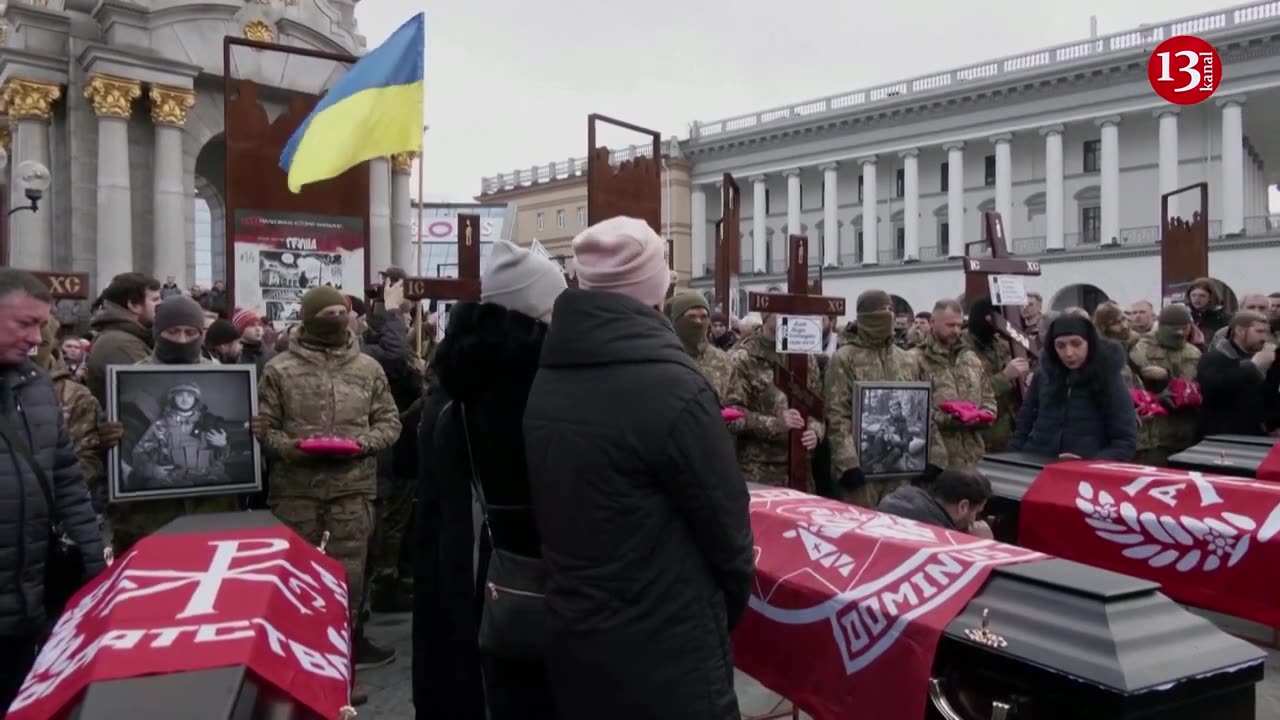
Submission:
[[[1201,351],[1187,342],[1192,314],[1183,305],[1170,305],[1160,311],[1160,325],[1143,336],[1129,354],[1138,368],[1143,387],[1160,396],[1175,378],[1196,379]],[[1197,413],[1194,407],[1175,409],[1165,404],[1169,415],[1140,419],[1137,461],[1164,465],[1169,456],[1187,450],[1196,442]]]

